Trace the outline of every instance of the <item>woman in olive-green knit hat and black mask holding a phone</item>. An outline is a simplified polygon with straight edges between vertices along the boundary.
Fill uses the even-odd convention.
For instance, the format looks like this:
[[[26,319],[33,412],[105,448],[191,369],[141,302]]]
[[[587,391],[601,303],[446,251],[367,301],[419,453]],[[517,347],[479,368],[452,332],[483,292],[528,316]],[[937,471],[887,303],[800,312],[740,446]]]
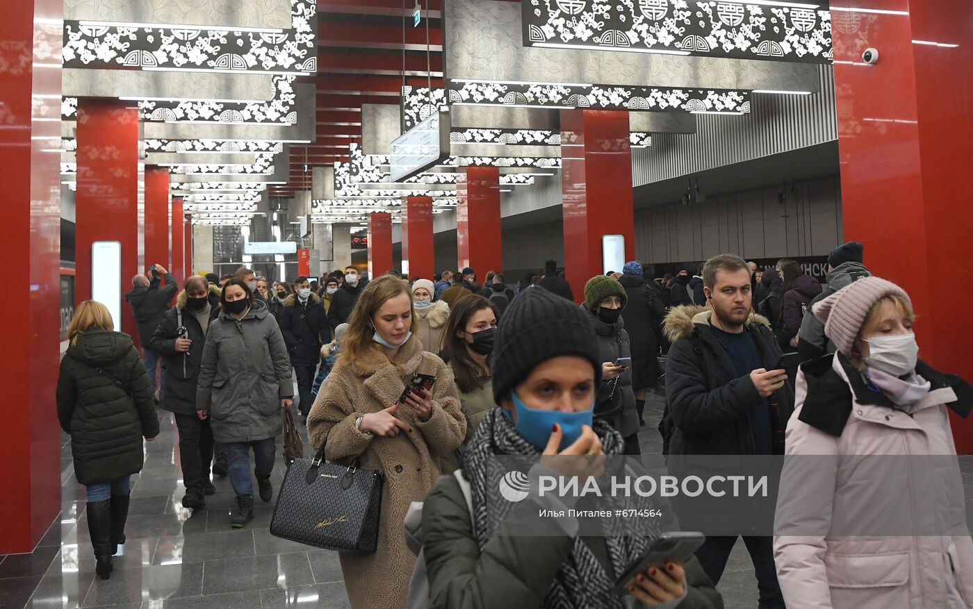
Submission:
[[[618,280],[595,275],[585,284],[585,309],[592,317],[601,357],[601,384],[595,416],[611,423],[625,439],[625,454],[641,454],[638,448],[638,411],[631,388],[631,347],[622,309],[629,295]]]

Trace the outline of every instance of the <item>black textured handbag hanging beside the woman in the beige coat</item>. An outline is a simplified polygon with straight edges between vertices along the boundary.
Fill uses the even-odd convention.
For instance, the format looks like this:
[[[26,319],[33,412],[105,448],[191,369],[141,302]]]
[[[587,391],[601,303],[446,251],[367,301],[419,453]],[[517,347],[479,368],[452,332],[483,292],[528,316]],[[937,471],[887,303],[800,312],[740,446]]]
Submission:
[[[384,476],[359,469],[358,459],[348,466],[328,463],[327,445],[325,436],[313,459],[296,459],[287,468],[270,534],[324,550],[375,552]]]

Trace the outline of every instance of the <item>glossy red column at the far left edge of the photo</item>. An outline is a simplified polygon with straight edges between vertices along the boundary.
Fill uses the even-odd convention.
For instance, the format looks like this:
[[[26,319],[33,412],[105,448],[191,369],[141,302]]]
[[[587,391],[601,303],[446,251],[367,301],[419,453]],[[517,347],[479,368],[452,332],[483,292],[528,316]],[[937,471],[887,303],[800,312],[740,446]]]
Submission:
[[[27,553],[60,511],[54,415],[60,279],[61,0],[13,0],[0,20],[0,555]],[[34,121],[32,119],[44,119]],[[55,533],[58,530],[55,525]]]

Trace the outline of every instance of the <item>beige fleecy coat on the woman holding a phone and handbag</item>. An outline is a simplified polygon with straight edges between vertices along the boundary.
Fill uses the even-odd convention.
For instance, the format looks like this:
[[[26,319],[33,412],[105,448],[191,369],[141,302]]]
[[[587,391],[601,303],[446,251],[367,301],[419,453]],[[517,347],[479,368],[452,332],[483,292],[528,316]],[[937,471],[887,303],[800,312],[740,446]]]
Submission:
[[[436,376],[433,414],[422,423],[402,407],[396,416],[413,427],[394,438],[372,437],[355,430],[355,419],[397,403],[405,381],[415,373]],[[330,435],[328,435],[330,432]],[[452,373],[439,357],[421,350],[413,337],[389,362],[376,346],[367,356],[338,359],[321,386],[307,416],[307,433],[315,451],[328,435],[329,460],[360,455],[360,467],[385,476],[381,493],[381,521],[375,554],[342,552],[344,587],[355,609],[403,609],[415,556],[406,546],[403,520],[409,504],[423,501],[440,475],[439,457],[459,447],[466,433],[466,417]]]

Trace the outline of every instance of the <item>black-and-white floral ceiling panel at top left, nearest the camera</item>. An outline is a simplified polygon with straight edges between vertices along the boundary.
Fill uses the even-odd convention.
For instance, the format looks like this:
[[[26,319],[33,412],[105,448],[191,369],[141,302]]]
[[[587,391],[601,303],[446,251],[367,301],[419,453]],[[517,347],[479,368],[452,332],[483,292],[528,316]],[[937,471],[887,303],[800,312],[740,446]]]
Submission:
[[[291,0],[290,29],[267,31],[65,20],[61,56],[65,68],[312,74],[316,13],[314,0]]]

